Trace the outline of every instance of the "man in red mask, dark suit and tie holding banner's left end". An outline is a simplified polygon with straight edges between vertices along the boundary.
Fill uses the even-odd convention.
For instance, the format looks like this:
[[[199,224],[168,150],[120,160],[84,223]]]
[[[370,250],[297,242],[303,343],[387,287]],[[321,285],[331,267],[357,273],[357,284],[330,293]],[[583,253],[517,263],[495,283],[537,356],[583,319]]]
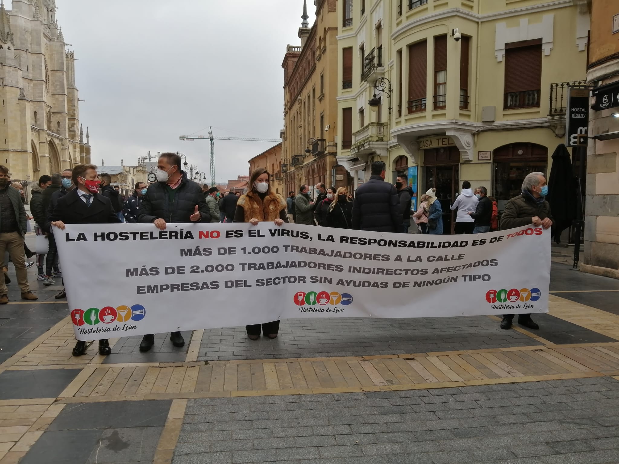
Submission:
[[[115,224],[120,219],[108,198],[99,194],[101,181],[97,175],[95,165],[77,165],[72,172],[73,183],[77,186],[71,192],[58,199],[52,208],[45,230],[53,234],[52,227],[64,230],[65,224]],[[84,271],[89,272],[89,264],[85,265]],[[82,356],[86,351],[86,342],[78,340],[73,348],[73,356]],[[99,354],[111,353],[110,343],[107,338],[99,340]]]

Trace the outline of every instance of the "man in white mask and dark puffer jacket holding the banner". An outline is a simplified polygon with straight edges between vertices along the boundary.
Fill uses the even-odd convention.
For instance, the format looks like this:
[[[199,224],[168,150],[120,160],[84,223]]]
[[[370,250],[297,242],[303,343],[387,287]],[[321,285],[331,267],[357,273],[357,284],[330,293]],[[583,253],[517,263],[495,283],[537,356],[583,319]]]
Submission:
[[[181,170],[181,161],[178,153],[159,155],[157,182],[150,184],[144,195],[139,223],[152,223],[159,230],[165,230],[167,223],[210,222],[202,187]],[[170,341],[176,348],[185,345],[180,332],[170,332]],[[144,335],[140,351],[149,351],[154,344],[154,333]]]

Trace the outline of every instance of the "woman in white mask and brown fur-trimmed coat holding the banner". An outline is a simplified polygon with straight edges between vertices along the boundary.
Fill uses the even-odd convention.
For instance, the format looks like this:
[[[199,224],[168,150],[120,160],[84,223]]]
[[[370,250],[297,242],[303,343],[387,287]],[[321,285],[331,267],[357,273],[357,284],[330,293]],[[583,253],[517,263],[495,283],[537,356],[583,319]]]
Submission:
[[[273,191],[269,179],[271,175],[265,168],[258,168],[251,173],[248,192],[236,202],[235,222],[248,222],[253,226],[261,221],[273,221],[276,226],[288,222],[287,205],[284,198]],[[277,338],[279,320],[265,324],[246,325],[249,340],[258,340],[260,332],[269,338]]]

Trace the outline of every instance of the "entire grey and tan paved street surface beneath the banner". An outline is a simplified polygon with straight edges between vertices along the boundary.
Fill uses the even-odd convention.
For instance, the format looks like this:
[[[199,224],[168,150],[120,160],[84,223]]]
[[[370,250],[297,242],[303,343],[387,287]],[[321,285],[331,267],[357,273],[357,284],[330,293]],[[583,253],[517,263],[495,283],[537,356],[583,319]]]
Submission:
[[[619,462],[617,280],[553,263],[536,331],[284,320],[275,340],[196,330],[74,358],[59,285],[33,272],[40,301],[11,283],[0,307],[0,464]]]

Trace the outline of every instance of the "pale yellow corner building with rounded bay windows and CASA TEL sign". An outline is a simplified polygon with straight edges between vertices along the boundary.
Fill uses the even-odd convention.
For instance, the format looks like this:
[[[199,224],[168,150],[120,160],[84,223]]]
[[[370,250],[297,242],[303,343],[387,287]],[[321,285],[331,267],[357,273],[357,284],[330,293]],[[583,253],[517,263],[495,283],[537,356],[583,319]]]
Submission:
[[[502,210],[519,193],[527,173],[550,172],[552,153],[565,142],[567,88],[585,84],[586,78],[590,22],[586,2],[578,3],[342,2],[339,75],[343,79],[343,50],[352,47],[353,85],[340,86],[340,127],[347,124],[341,119],[347,108],[355,106],[351,148],[342,145],[338,160],[348,160],[353,170],[366,170],[357,178],[360,183],[369,177],[367,163],[379,158],[386,161],[392,173],[387,180],[392,181],[405,170],[405,154],[409,166],[418,166],[418,191],[437,189],[446,231],[454,219],[448,206],[464,180],[487,187]],[[379,25],[384,59],[382,66],[365,60],[364,80],[361,57],[379,46]],[[391,98],[376,94],[383,95],[384,103],[391,100],[391,114],[387,105],[379,107],[386,126],[378,126],[376,134],[370,126],[372,141],[360,157],[358,135],[368,131],[361,122],[376,119],[362,121],[357,108],[368,105],[375,93],[372,79],[383,72]]]

